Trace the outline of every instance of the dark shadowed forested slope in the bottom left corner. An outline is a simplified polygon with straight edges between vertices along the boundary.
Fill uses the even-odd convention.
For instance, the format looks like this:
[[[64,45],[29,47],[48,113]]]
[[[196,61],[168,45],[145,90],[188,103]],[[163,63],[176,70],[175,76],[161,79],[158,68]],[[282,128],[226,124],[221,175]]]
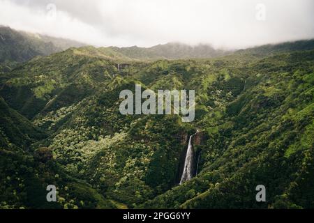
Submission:
[[[116,208],[91,185],[68,176],[49,148],[29,148],[45,137],[0,98],[0,208]],[[57,203],[47,202],[47,185],[60,191]]]

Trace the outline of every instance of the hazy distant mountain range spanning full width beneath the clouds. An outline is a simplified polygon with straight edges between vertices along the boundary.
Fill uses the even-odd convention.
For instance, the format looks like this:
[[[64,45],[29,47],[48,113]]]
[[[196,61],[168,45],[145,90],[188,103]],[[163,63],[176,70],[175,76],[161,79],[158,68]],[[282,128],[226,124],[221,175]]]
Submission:
[[[35,56],[47,56],[70,47],[83,47],[78,51],[123,61],[156,59],[207,59],[228,54],[250,54],[267,56],[276,53],[313,49],[314,40],[299,40],[291,43],[263,45],[240,50],[214,49],[211,45],[190,46],[183,43],[167,43],[154,47],[92,47],[75,40],[55,38],[36,33],[16,31],[0,26],[0,63],[4,61],[24,62]]]

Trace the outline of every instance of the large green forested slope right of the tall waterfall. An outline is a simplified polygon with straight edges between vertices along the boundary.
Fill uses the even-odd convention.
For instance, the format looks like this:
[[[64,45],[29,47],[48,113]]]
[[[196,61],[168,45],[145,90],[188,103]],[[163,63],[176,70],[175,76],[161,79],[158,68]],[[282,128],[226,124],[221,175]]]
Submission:
[[[200,174],[143,207],[313,208],[313,59],[283,54],[246,68],[245,90],[204,119]],[[260,184],[266,203],[255,201]]]

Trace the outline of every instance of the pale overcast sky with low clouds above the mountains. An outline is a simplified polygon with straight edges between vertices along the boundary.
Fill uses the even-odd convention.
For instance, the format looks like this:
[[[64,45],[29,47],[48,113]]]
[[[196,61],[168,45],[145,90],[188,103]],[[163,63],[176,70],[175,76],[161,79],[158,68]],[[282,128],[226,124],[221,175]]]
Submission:
[[[0,24],[96,46],[314,38],[313,0],[0,0]]]

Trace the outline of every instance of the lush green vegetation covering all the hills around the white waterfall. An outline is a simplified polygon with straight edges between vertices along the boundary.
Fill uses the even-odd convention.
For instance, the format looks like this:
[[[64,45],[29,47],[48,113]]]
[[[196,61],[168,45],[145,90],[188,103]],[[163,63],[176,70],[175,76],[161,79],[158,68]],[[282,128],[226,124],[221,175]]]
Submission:
[[[314,208],[313,40],[140,61],[159,59],[149,50],[1,63],[0,208]],[[121,115],[119,93],[135,84],[194,89],[195,121]],[[178,185],[197,129],[198,174]],[[49,184],[57,203],[45,201]],[[255,201],[260,184],[267,202]]]

